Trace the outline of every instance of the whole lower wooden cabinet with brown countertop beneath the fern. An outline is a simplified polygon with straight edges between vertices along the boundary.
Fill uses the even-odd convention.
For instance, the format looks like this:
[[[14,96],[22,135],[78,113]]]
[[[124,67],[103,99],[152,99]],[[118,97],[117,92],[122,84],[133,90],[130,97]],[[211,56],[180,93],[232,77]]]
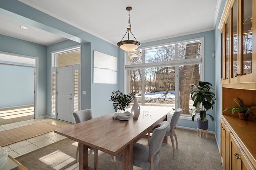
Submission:
[[[220,157],[223,170],[256,169],[256,133],[253,121],[242,121],[237,117],[222,115]]]

